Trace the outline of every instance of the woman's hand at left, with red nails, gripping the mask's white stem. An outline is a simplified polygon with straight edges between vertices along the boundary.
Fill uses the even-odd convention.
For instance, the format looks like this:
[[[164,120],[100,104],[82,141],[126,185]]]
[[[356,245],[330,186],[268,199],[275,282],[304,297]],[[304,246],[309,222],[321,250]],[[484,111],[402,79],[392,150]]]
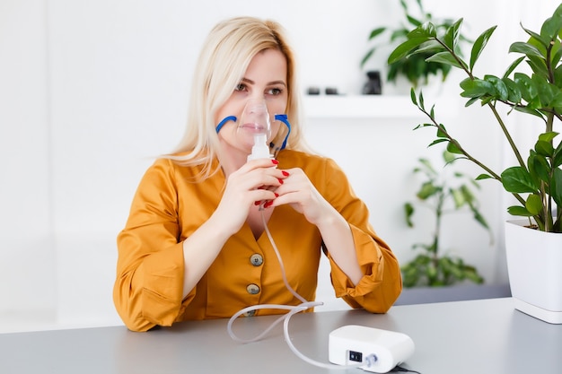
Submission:
[[[287,177],[277,169],[276,160],[253,160],[234,171],[226,181],[221,202],[215,210],[215,221],[231,234],[240,230],[252,205],[277,197],[275,189]]]

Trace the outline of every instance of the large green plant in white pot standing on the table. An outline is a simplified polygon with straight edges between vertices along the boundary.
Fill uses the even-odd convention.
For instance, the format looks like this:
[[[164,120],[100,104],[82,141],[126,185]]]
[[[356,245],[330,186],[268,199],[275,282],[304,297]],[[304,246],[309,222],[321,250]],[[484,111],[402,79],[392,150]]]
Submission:
[[[559,126],[562,120],[562,4],[543,22],[540,31],[522,27],[529,39],[514,42],[509,48],[509,52],[522,56],[501,76],[484,74],[480,78],[474,74],[474,66],[496,26],[482,32],[472,43],[470,61],[466,62],[456,52],[461,25],[462,19],[454,22],[443,36],[431,22],[418,26],[394,49],[389,63],[419,53],[423,45],[423,51],[430,54],[427,61],[449,64],[466,73],[467,78],[460,83],[461,97],[468,99],[466,106],[479,101],[491,111],[517,164],[496,172],[477,160],[462,147],[450,128],[437,120],[435,106],[426,108],[422,92],[417,95],[412,90],[413,103],[428,118],[427,123],[416,128],[434,128],[436,138],[430,145],[447,144],[449,152],[485,171],[477,179],[495,179],[514,196],[517,204],[510,206],[508,213],[525,217],[523,221],[528,226],[514,224],[518,222],[507,222],[505,226],[507,268],[515,308],[550,323],[562,323],[562,142],[555,131],[555,125]],[[522,72],[523,61],[531,73]],[[526,159],[506,122],[508,115],[515,114],[541,125],[541,129],[537,126],[534,147]],[[515,244],[523,247],[513,248]]]

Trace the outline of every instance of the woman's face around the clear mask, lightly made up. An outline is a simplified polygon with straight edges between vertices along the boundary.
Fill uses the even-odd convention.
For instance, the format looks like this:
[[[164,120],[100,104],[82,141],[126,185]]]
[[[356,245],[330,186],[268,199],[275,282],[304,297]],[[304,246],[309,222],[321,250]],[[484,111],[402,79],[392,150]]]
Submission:
[[[279,50],[265,49],[251,59],[241,82],[216,113],[216,124],[224,117],[235,116],[237,118],[236,124],[233,122],[225,124],[218,134],[221,144],[226,150],[240,152],[244,155],[251,152],[251,146],[254,144],[253,135],[243,128],[238,128],[243,125],[241,124],[242,112],[249,100],[266,102],[271,123],[268,143],[275,138],[281,125],[273,118],[276,114],[285,113],[287,106],[286,77],[285,55]]]

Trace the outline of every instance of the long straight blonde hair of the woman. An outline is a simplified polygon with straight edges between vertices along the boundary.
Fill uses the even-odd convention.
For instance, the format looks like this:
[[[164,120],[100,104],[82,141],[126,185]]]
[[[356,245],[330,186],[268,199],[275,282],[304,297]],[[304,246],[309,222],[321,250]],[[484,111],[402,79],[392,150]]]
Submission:
[[[274,21],[236,17],[218,23],[207,36],[193,78],[185,134],[175,151],[163,157],[181,165],[203,165],[203,178],[216,171],[212,170],[212,162],[219,152],[215,113],[241,82],[251,59],[269,48],[281,51],[287,62],[285,114],[291,124],[291,134],[286,148],[307,150],[299,126],[302,115],[294,51],[287,43],[285,30]],[[283,139],[273,142],[281,144]]]

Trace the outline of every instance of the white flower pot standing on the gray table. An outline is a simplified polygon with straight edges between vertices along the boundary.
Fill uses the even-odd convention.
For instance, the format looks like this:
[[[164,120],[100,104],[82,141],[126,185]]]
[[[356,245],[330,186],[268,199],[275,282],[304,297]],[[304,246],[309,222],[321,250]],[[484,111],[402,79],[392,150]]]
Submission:
[[[562,324],[562,234],[505,222],[505,252],[515,309]]]

